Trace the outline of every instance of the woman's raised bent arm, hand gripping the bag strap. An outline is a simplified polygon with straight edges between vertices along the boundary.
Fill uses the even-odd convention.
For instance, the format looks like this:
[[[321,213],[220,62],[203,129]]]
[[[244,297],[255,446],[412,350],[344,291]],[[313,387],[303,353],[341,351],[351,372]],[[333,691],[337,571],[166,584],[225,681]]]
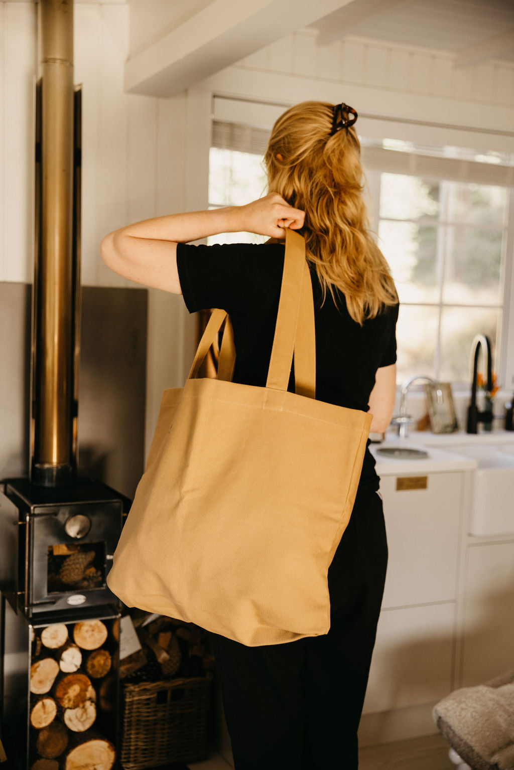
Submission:
[[[271,192],[247,206],[156,216],[121,227],[102,239],[100,254],[120,276],[181,294],[176,269],[177,243],[240,231],[283,239],[284,228],[300,229],[303,224],[304,212]]]

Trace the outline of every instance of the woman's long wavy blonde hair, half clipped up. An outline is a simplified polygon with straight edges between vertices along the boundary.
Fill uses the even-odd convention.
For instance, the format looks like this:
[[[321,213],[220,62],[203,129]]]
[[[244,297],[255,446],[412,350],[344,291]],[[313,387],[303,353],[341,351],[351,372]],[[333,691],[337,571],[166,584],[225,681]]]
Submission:
[[[369,229],[362,197],[361,145],[353,126],[329,136],[334,105],[301,102],[287,109],[271,131],[264,155],[269,192],[305,212],[307,261],[323,290],[340,290],[348,313],[361,326],[384,305],[398,302],[388,263]],[[277,158],[281,156],[282,159]]]

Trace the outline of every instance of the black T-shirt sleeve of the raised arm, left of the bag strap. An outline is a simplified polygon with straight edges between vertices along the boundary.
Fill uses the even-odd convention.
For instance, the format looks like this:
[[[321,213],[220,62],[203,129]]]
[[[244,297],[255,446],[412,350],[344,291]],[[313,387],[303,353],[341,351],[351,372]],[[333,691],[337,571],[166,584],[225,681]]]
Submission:
[[[176,266],[190,313],[214,307],[227,313],[252,313],[280,293],[284,244],[177,243]]]

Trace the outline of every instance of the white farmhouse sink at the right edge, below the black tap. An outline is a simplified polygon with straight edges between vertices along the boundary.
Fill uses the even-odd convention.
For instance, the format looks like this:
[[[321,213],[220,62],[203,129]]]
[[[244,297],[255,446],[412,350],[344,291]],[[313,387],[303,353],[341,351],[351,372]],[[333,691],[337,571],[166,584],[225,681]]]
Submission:
[[[469,534],[514,533],[514,446],[467,445],[452,447],[452,451],[478,462],[472,481]]]

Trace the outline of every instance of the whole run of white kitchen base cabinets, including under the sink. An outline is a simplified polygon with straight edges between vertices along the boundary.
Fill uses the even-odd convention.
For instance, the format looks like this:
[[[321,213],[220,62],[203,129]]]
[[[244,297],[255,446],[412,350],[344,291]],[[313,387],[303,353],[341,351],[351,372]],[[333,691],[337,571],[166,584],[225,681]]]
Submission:
[[[388,571],[361,745],[431,735],[438,700],[514,669],[514,536],[468,535],[476,460],[435,440],[426,460],[376,457]]]

